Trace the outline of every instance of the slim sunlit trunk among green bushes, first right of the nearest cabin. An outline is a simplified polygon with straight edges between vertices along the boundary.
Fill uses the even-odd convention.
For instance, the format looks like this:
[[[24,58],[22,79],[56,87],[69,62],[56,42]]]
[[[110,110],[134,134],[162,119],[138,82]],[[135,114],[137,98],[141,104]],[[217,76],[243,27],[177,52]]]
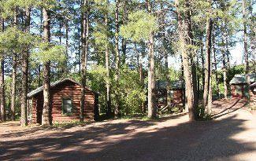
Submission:
[[[107,1],[107,4],[109,4],[109,1]],[[108,21],[109,21],[108,13],[106,13],[105,25],[107,29],[109,28]],[[107,40],[109,40],[109,38],[107,38]],[[105,61],[106,61],[105,63],[106,63],[106,107],[107,107],[106,114],[110,116],[112,112],[111,112],[111,100],[110,100],[109,45],[108,44],[106,44],[105,46]]]

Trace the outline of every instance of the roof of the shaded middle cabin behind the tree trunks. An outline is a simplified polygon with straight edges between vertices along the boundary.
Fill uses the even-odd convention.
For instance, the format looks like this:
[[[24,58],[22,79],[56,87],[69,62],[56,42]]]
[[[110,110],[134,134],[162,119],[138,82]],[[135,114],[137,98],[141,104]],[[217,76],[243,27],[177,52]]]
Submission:
[[[171,81],[170,85],[171,85],[170,86],[171,90],[185,89],[185,83],[182,80]],[[158,80],[158,81],[156,81],[155,86],[156,86],[156,89],[166,89],[167,88],[167,81]]]

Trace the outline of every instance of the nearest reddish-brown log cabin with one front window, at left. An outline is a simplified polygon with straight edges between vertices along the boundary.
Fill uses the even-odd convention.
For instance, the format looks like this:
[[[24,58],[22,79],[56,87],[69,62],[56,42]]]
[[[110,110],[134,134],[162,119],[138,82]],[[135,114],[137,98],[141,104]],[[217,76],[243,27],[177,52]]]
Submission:
[[[50,84],[50,112],[54,122],[80,120],[81,85],[72,79],[62,79]],[[42,123],[43,86],[28,93],[28,119]],[[84,119],[97,119],[98,93],[86,87],[83,110]]]

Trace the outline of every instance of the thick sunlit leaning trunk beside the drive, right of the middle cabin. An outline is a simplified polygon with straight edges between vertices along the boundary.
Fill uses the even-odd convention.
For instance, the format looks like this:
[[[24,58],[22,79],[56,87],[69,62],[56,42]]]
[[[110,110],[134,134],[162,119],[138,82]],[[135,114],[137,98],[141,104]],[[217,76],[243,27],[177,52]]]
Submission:
[[[176,0],[176,14],[178,19],[178,30],[179,30],[179,38],[180,38],[180,49],[183,59],[184,66],[184,79],[186,83],[186,95],[187,95],[187,108],[190,121],[196,119],[196,108],[198,107],[198,100],[196,99],[196,82],[193,81],[195,74],[193,74],[193,58],[195,54],[188,47],[192,45],[192,32],[191,32],[191,10],[190,10],[190,2],[185,1],[185,7],[187,11],[185,12],[184,20],[183,16],[180,13],[179,0]]]

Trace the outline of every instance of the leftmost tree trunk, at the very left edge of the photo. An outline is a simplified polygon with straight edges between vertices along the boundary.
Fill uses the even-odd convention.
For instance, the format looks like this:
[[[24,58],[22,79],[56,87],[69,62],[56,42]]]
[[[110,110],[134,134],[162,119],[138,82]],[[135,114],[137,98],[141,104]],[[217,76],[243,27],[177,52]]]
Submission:
[[[3,32],[5,29],[4,19],[0,17],[0,27]],[[1,53],[3,55],[3,53]],[[5,66],[4,57],[0,55],[0,112],[1,121],[6,122],[6,96],[5,96]]]

